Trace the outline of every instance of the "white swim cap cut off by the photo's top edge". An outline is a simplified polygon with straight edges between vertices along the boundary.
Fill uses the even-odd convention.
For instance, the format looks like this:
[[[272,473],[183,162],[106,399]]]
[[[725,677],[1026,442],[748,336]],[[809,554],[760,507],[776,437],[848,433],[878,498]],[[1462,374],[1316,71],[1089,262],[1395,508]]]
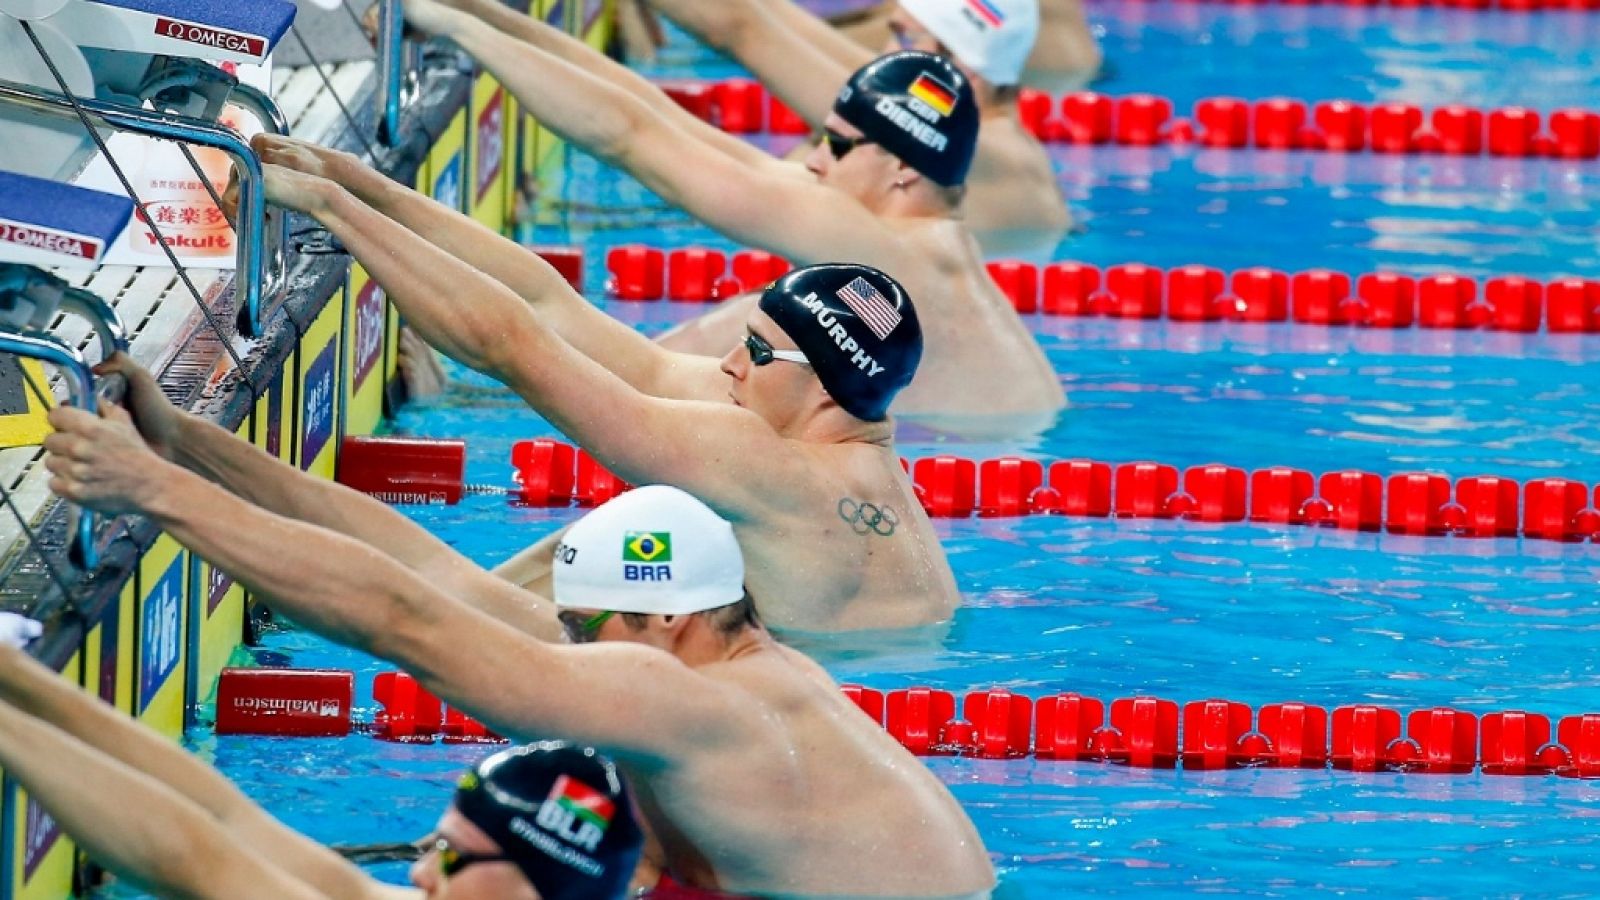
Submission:
[[[899,0],[962,66],[990,85],[1014,85],[1038,38],[1038,0]]]

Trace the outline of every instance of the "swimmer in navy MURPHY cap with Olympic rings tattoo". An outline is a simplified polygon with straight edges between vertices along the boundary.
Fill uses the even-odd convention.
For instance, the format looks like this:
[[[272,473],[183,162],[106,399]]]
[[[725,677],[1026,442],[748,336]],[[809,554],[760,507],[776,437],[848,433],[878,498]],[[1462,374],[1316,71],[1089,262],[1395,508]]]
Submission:
[[[285,154],[272,147],[296,147],[258,146],[274,162]],[[922,359],[925,319],[883,272],[784,275],[718,362],[666,351],[595,311],[542,259],[518,253],[480,272],[333,181],[272,163],[266,191],[338,235],[424,341],[507,384],[622,480],[682,487],[730,519],[774,626],[950,618],[955,578],[890,416]],[[496,277],[515,279],[522,296]],[[547,591],[552,546],[536,544],[509,575]]]

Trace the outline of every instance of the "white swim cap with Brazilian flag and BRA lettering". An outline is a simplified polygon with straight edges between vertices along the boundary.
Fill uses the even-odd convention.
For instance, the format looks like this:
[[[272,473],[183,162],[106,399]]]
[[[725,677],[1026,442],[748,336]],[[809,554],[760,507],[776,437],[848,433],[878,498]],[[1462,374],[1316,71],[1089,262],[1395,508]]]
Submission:
[[[650,485],[579,519],[555,548],[555,605],[688,615],[744,596],[733,525],[688,493]]]

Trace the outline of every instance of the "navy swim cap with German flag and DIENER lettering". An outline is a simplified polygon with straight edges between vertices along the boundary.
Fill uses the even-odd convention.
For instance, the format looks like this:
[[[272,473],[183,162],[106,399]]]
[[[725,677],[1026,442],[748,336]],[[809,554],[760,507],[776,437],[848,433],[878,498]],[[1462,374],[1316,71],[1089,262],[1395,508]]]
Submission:
[[[834,112],[938,184],[966,181],[978,99],[949,59],[915,50],[880,56],[845,82]]]

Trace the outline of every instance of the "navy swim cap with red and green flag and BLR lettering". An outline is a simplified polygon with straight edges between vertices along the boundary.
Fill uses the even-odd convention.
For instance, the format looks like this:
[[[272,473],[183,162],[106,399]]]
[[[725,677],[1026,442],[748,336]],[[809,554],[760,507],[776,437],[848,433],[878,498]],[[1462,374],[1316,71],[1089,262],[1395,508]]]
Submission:
[[[477,764],[456,785],[456,810],[546,900],[622,897],[645,842],[616,765],[563,741],[515,746]]]

